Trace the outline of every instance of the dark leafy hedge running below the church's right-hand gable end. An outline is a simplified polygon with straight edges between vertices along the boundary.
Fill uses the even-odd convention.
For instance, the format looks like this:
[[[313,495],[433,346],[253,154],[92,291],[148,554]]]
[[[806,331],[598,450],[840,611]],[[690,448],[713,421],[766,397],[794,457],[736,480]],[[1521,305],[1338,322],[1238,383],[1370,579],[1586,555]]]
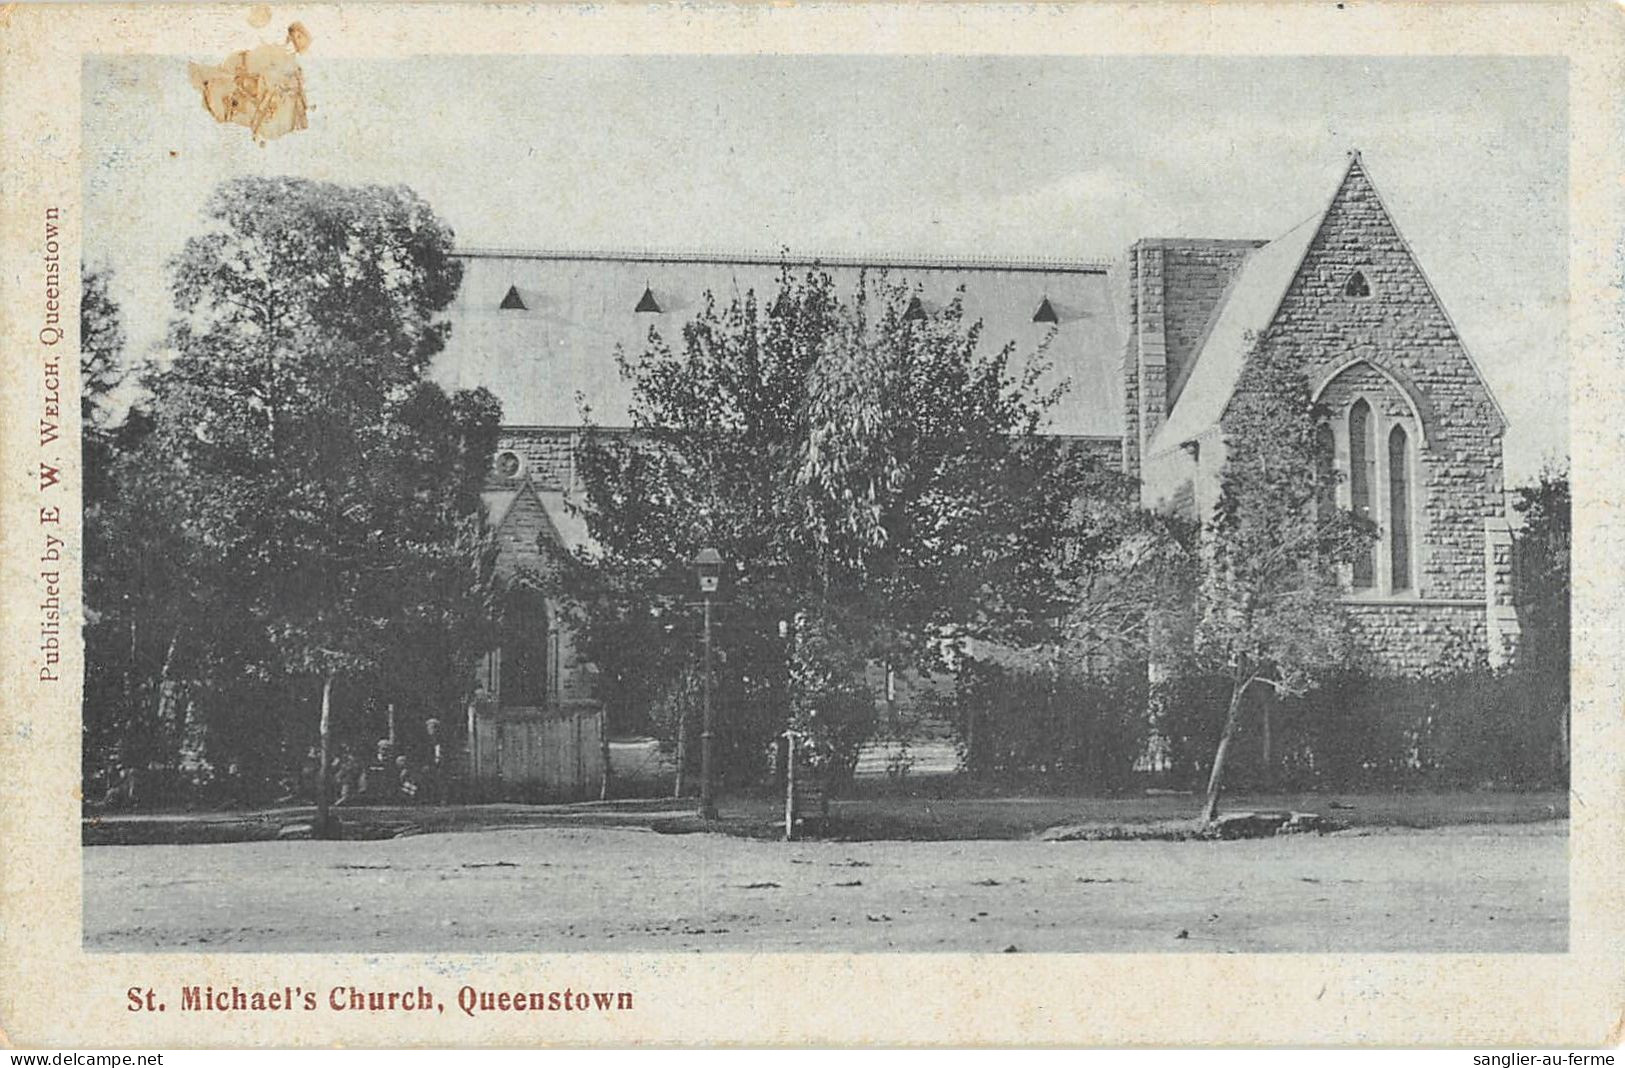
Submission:
[[[1227,788],[1563,788],[1568,701],[1552,679],[1532,670],[1422,679],[1349,671],[1289,701],[1258,688]],[[1228,692],[1228,679],[1201,675],[1147,688],[1144,665],[1087,676],[970,663],[938,715],[954,725],[973,774],[1037,774],[1095,792],[1149,780],[1194,790],[1206,785]]]

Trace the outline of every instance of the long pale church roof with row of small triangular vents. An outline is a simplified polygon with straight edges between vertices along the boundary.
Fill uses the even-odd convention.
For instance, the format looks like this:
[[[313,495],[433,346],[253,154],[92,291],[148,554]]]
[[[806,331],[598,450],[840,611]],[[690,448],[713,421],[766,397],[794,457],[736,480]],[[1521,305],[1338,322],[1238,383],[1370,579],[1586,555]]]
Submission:
[[[710,293],[726,306],[754,291],[769,302],[780,270],[817,263],[843,299],[864,271],[889,270],[930,314],[964,286],[965,323],[982,322],[982,351],[1016,345],[1012,372],[1048,338],[1040,389],[1071,389],[1050,413],[1060,434],[1123,434],[1123,328],[1105,267],[1094,260],[931,260],[702,254],[497,252],[463,249],[463,283],[448,309],[452,335],[432,376],[447,389],[483,385],[502,402],[505,426],[578,426],[582,406],[601,426],[630,426],[632,385],[616,353],[644,353],[650,332],[679,354],[682,327]],[[526,310],[502,309],[515,289]],[[637,310],[642,297],[656,307]],[[1056,322],[1034,322],[1048,297]],[[1053,338],[1050,332],[1053,330]]]

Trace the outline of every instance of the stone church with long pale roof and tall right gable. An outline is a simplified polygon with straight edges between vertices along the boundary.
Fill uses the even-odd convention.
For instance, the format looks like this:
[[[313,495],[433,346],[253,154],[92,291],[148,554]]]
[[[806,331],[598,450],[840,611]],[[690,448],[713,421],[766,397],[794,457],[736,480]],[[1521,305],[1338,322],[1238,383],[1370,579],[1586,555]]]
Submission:
[[[1053,332],[1069,379],[1051,432],[1139,475],[1147,506],[1204,515],[1217,499],[1225,410],[1254,345],[1289,346],[1328,410],[1323,441],[1342,502],[1381,540],[1347,582],[1372,658],[1414,673],[1466,644],[1492,663],[1516,642],[1511,532],[1502,489],[1505,416],[1448,310],[1350,154],[1324,210],[1272,239],[1147,237],[1115,262],[710,255],[465,249],[447,387],[483,385],[505,429],[488,483],[502,567],[546,567],[587,545],[567,502],[582,403],[629,423],[614,353],[650,328],[678,338],[705,294],[770,293],[782,265],[852,289],[884,268],[930,315],[964,288],[990,345],[1030,351]],[[514,613],[481,675],[491,715],[593,712],[593,668],[554,606]],[[531,743],[526,743],[531,745]]]

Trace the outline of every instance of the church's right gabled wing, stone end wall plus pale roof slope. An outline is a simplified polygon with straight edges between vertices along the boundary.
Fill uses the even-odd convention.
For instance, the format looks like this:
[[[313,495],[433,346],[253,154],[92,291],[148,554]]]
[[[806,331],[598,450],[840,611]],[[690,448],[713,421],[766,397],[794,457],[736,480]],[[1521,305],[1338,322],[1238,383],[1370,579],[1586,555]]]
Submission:
[[[1367,623],[1399,636],[1410,631],[1396,613],[1415,605],[1482,613],[1505,418],[1358,154],[1320,216],[1235,275],[1146,449],[1147,504],[1176,506],[1186,483],[1199,504],[1217,499],[1225,415],[1254,345],[1303,367],[1339,497],[1381,532],[1350,588]]]

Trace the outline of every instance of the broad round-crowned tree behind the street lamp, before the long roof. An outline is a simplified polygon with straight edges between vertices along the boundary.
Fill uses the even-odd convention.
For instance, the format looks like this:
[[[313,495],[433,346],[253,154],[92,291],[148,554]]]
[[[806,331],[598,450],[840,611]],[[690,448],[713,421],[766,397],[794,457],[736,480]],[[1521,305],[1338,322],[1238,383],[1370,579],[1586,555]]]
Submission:
[[[762,714],[730,717],[736,767],[791,715],[848,766],[873,722],[873,699],[834,683],[853,665],[942,666],[972,637],[1063,614],[1053,561],[1095,465],[1042,432],[1042,353],[1017,366],[959,299],[926,314],[916,297],[786,268],[770,301],[707,301],[681,349],[652,333],[621,354],[634,431],[582,450],[601,553],[575,600],[608,676],[686,663],[634,634],[682,597],[699,548],[738,564],[720,697]]]

